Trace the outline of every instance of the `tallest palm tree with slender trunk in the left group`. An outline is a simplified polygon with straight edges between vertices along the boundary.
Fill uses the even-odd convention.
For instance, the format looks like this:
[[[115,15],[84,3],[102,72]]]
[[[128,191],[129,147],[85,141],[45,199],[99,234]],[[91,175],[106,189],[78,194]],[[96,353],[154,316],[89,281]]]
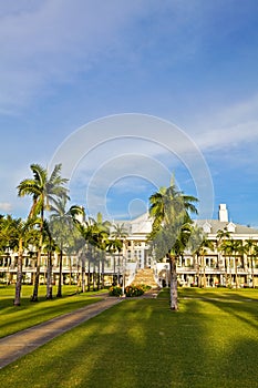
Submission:
[[[50,177],[48,170],[39,164],[31,164],[33,178],[25,178],[18,185],[18,195],[32,196],[32,206],[29,213],[29,218],[40,215],[40,241],[37,256],[37,273],[34,279],[34,289],[31,297],[32,302],[38,302],[38,289],[40,279],[40,263],[41,251],[43,243],[43,222],[44,211],[50,211],[51,203],[59,197],[68,198],[68,188],[65,187],[66,178],[61,177],[61,164],[54,166]]]

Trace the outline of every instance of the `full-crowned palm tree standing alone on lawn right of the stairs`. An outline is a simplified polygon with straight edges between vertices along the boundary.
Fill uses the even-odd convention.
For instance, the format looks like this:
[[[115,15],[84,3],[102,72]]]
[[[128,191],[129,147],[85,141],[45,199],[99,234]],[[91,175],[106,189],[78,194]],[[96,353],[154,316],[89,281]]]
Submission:
[[[171,309],[177,310],[176,261],[190,236],[192,218],[197,213],[194,202],[197,198],[179,192],[172,180],[169,187],[161,187],[149,197],[149,214],[153,228],[149,239],[153,242],[156,257],[167,257],[171,267]]]

